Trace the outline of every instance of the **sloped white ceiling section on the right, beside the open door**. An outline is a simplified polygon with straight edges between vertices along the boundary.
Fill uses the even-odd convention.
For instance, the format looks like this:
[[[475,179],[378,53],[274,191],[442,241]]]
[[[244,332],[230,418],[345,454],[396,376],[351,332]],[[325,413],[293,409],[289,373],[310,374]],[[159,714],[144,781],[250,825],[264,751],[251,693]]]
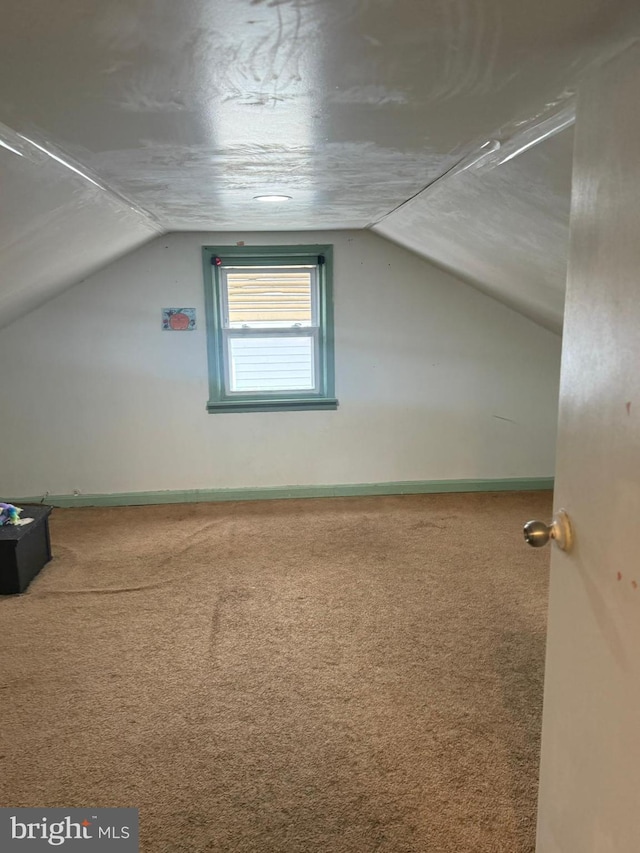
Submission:
[[[492,169],[436,182],[374,231],[562,329],[573,128]]]

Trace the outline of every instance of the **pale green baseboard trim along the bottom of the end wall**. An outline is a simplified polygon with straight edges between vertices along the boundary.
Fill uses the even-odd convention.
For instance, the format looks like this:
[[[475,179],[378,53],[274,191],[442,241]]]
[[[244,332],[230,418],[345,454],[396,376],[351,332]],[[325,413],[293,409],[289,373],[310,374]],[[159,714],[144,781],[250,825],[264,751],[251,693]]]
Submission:
[[[434,495],[446,492],[528,492],[553,489],[553,477],[507,480],[407,480],[395,483],[344,483],[337,486],[267,486],[241,489],[191,489],[166,492],[123,492],[106,495],[38,495],[11,503],[49,506],[146,506],[148,504],[262,501],[286,498],[363,497],[367,495]]]

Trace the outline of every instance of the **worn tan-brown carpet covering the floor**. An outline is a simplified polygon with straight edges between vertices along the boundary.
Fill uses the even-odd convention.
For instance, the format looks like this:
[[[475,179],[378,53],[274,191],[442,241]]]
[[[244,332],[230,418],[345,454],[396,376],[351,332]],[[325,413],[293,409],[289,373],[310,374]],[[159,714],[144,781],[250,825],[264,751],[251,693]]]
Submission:
[[[142,850],[530,853],[549,493],[55,510],[0,599],[0,804]]]

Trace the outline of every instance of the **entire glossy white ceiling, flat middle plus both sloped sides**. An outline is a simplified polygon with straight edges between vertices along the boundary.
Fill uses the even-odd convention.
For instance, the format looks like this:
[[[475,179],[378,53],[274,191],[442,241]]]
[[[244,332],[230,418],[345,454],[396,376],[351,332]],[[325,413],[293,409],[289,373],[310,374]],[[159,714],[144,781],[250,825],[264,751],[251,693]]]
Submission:
[[[373,227],[557,328],[570,132],[422,190],[565,109],[636,6],[5,0],[0,325],[157,233]]]

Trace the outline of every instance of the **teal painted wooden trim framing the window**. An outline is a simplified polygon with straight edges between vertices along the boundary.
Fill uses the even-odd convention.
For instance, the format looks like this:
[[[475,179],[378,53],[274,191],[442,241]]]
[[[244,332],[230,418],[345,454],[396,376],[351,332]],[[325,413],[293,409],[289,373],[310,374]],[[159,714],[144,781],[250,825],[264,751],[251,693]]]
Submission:
[[[319,258],[324,259],[319,263]],[[222,281],[220,266],[286,266],[290,264],[317,264],[319,359],[318,390],[275,391],[263,394],[227,393],[225,386]],[[333,337],[333,246],[203,246],[202,263],[207,323],[207,357],[209,363],[210,414],[222,412],[283,412],[337,409],[335,396],[335,356]]]

